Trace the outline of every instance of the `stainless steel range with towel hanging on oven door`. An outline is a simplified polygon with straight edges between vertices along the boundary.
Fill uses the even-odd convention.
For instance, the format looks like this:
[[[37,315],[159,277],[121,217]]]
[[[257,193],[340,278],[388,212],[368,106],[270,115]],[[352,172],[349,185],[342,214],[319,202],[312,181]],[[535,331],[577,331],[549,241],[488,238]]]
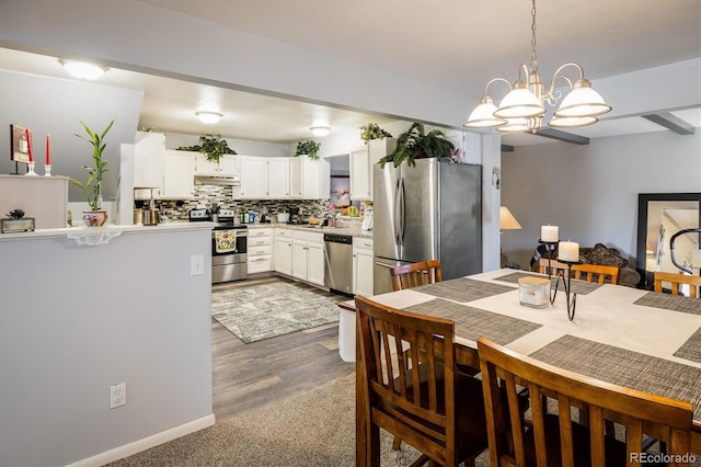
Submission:
[[[241,281],[249,276],[248,239],[245,225],[235,224],[232,209],[192,209],[189,221],[216,221],[211,231],[211,283]]]

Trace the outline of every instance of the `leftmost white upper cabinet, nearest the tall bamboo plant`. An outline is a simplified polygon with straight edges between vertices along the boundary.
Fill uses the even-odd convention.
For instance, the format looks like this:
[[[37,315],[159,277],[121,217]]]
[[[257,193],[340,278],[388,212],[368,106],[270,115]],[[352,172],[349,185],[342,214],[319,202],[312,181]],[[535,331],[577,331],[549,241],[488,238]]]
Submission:
[[[163,155],[165,137],[162,133],[137,132],[134,144],[134,187],[163,186]]]

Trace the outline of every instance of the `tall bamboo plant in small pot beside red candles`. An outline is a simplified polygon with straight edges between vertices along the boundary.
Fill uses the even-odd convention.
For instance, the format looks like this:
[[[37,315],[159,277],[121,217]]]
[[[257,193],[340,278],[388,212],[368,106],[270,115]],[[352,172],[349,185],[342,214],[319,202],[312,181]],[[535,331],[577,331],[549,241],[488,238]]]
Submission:
[[[101,134],[93,132],[84,122],[79,122],[85,128],[85,133],[90,138],[77,133],[74,135],[92,145],[93,167],[83,166],[83,169],[88,171],[85,183],[74,179],[70,179],[70,182],[83,191],[90,205],[90,210],[83,212],[83,223],[89,227],[102,226],[107,220],[107,212],[102,210],[102,181],[104,173],[107,171],[107,160],[103,159],[102,156],[107,146],[104,139],[112,125],[114,125],[114,119],[110,122],[110,125]]]

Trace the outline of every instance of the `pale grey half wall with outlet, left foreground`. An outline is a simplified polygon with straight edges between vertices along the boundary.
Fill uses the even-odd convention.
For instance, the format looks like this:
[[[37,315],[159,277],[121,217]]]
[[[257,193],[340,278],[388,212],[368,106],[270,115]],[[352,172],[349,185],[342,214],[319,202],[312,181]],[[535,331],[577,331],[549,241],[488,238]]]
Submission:
[[[183,228],[99,247],[0,236],[0,465],[68,465],[214,422],[211,231]],[[191,255],[205,274],[189,275]],[[127,405],[110,410],[123,381]]]

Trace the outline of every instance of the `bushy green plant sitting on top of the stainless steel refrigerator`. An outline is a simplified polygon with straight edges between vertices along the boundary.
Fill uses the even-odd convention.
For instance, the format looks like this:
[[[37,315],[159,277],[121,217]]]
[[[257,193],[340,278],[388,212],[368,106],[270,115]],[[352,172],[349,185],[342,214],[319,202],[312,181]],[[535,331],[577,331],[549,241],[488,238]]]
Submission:
[[[425,133],[424,125],[415,122],[397,138],[394,151],[380,159],[380,167],[383,168],[387,162],[399,167],[404,161],[413,167],[416,166],[414,159],[450,157],[453,149],[455,146],[445,139],[441,130]]]

